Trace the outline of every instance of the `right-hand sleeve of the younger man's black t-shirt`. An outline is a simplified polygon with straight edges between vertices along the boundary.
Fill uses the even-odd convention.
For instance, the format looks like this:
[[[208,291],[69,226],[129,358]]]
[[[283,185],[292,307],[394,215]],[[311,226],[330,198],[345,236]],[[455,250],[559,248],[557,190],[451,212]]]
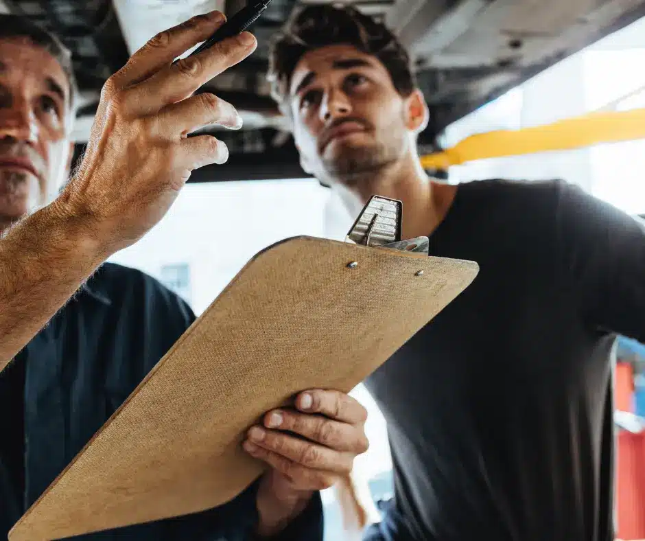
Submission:
[[[587,325],[645,342],[645,224],[559,183],[556,244]]]

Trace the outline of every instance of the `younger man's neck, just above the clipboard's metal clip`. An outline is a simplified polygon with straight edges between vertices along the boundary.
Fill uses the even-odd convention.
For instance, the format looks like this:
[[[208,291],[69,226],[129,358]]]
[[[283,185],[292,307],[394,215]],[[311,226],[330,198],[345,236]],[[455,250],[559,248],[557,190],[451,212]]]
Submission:
[[[403,203],[402,238],[427,236],[436,229],[447,213],[456,187],[432,181],[421,168],[419,158],[410,154],[405,159],[385,165],[353,179],[343,199],[347,209],[356,216],[374,195],[398,199]]]

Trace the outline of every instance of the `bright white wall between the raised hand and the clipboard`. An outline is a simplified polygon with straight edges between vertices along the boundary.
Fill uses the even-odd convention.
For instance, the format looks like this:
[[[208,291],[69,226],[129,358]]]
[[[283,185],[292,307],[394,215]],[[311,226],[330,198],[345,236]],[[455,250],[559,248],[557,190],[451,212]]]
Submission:
[[[258,251],[296,235],[322,236],[328,194],[312,179],[189,184],[143,240],[112,260],[160,277],[188,263],[200,314]]]

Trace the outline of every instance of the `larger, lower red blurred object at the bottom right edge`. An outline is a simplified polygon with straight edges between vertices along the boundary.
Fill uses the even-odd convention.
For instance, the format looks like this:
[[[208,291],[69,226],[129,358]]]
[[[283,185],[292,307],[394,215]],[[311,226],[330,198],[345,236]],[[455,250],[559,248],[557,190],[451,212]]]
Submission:
[[[645,433],[618,433],[616,505],[619,539],[645,538]]]

